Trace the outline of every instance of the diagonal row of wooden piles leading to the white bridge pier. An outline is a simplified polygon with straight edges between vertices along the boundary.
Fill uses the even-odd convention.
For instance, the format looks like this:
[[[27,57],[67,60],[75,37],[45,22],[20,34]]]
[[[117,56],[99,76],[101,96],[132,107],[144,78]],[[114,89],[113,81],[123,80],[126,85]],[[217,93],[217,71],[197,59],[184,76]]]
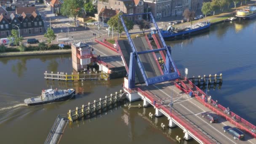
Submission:
[[[93,114],[96,115],[98,112],[103,111],[113,104],[117,104],[125,99],[125,92],[120,90],[120,92],[115,92],[115,94],[110,94],[110,96],[105,96],[103,99],[98,101],[94,100],[93,103],[88,103],[88,105],[82,105],[82,107],[76,107],[75,110],[69,110],[68,119],[73,122],[82,117],[91,117]]]

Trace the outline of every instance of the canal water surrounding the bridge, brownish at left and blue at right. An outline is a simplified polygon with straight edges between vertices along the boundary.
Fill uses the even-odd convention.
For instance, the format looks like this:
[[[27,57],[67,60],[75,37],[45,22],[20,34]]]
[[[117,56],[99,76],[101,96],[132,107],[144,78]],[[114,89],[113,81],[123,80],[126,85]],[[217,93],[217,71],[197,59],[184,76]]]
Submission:
[[[210,32],[189,39],[167,42],[172,58],[184,75],[223,74],[221,87],[207,91],[213,99],[256,125],[256,21],[217,24]],[[123,79],[110,81],[61,82],[44,80],[43,72],[72,72],[70,54],[0,58],[0,139],[2,144],[43,143],[58,114],[115,93]],[[39,95],[43,88],[76,88],[75,99],[27,107],[24,99]],[[214,87],[214,86],[211,86]],[[206,90],[205,90],[206,91]],[[141,101],[132,105],[142,104]],[[165,117],[151,120],[153,108],[128,109],[126,104],[89,120],[68,124],[61,144],[174,144],[180,128],[168,125]],[[181,143],[195,144],[195,141]]]

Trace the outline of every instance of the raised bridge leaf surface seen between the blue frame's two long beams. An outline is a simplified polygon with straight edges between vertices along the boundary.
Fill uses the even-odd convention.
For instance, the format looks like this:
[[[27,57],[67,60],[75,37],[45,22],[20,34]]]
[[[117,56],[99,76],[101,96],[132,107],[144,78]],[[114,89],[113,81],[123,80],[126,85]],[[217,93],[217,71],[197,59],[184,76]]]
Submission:
[[[145,37],[134,38],[133,43],[137,52],[150,50]],[[153,53],[139,54],[139,59],[142,62],[148,78],[162,75],[160,69],[157,67],[157,61],[154,59]]]

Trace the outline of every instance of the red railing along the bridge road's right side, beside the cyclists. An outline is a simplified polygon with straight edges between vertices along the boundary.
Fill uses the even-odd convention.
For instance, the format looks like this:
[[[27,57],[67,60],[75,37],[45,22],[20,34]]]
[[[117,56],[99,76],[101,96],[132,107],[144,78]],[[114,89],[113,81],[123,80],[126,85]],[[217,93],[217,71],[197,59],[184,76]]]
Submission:
[[[187,81],[189,82],[190,85],[192,85],[197,90],[197,92],[192,91],[191,89],[189,91],[192,91],[195,95],[195,98],[198,101],[200,101],[205,107],[208,107],[213,112],[216,112],[217,115],[220,115],[220,116],[224,117],[230,123],[234,124],[237,128],[240,128],[240,129],[250,133],[254,138],[256,138],[256,133],[253,133],[251,131],[251,129],[256,129],[255,125],[249,123],[247,120],[243,119],[239,115],[236,115],[234,112],[230,112],[230,116],[226,115],[224,113],[224,110],[227,109],[226,107],[223,107],[220,104],[218,104],[218,108],[214,107],[216,102],[213,99],[211,99],[211,104],[209,104],[208,102],[205,101],[205,99],[202,99],[200,97],[202,95],[206,96],[206,94],[200,88],[198,88],[194,83],[192,83],[190,80],[187,80]],[[184,92],[187,93],[187,91],[185,89],[182,89],[179,85],[178,86],[176,85],[176,87],[179,88],[181,91],[184,91]],[[234,115],[235,115],[235,120],[232,119],[232,116],[234,116]]]

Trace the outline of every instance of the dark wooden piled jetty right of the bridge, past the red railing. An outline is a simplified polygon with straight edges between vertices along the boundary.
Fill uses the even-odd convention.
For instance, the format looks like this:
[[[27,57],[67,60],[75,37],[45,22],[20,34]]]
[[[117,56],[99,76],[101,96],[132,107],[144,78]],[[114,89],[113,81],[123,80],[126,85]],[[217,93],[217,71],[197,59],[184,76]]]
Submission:
[[[209,76],[206,76],[206,75],[203,75],[203,77],[201,77],[200,75],[198,77],[191,77],[191,78],[188,78],[189,80],[192,80],[192,83],[196,84],[197,85],[206,85],[207,83],[208,84],[213,84],[213,83],[222,83],[222,74],[220,75],[209,75]]]

